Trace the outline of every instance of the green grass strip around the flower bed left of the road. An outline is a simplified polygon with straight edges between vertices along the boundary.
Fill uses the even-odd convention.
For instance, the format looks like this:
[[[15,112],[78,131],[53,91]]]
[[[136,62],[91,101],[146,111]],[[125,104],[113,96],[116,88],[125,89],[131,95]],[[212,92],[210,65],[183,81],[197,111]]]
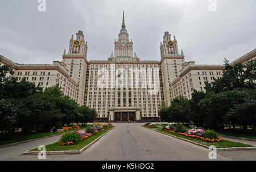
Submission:
[[[108,130],[102,130],[101,132],[98,132],[87,139],[84,139],[80,142],[77,142],[75,145],[65,145],[65,146],[60,146],[58,145],[59,142],[55,142],[53,144],[46,145],[46,151],[57,151],[57,150],[80,150],[84,148],[84,146],[90,144],[93,140],[96,140],[98,137],[103,135],[104,133],[108,132]],[[35,148],[30,151],[38,151],[38,148]]]

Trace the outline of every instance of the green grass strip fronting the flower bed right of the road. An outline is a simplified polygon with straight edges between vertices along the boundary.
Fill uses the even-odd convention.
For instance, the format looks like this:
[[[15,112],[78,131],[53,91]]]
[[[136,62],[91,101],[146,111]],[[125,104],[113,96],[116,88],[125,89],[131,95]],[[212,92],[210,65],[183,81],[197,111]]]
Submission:
[[[191,140],[193,142],[197,142],[203,145],[207,145],[207,146],[216,146],[216,148],[232,148],[232,147],[253,147],[251,145],[246,145],[246,144],[242,144],[240,142],[233,142],[233,141],[229,141],[229,140],[223,140],[222,142],[205,142],[203,140],[200,139],[196,139],[196,138],[191,138],[191,137],[187,137],[187,136],[182,136],[182,135],[177,135],[175,133],[171,133],[168,131],[163,131],[162,129],[157,129],[157,131],[163,132],[163,133],[168,133],[169,135],[174,135],[177,137],[181,137],[187,140]]]

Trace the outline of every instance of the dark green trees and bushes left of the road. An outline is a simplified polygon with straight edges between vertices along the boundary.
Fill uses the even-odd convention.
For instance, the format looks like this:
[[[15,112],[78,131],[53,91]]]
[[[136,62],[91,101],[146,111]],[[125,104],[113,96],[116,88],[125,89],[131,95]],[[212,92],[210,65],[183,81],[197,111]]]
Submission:
[[[1,59],[0,59],[1,60]],[[6,77],[9,73],[9,77]],[[0,66],[0,139],[9,139],[15,128],[27,135],[32,131],[51,131],[70,123],[86,124],[94,121],[95,110],[80,106],[65,96],[61,88],[52,86],[44,91],[39,86],[18,81],[13,69]]]

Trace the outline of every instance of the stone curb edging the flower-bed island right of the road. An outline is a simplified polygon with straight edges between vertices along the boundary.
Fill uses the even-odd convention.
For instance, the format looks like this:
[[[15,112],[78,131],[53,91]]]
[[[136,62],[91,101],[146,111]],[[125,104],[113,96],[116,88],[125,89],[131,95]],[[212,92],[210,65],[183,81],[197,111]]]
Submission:
[[[144,127],[145,128],[145,127]],[[148,129],[148,128],[147,128]],[[168,133],[163,133],[163,132],[160,132],[160,131],[156,131],[155,129],[150,129],[150,130],[153,130],[155,132],[159,132],[159,133],[162,133],[164,135],[168,135],[168,136],[172,136],[172,137],[175,137],[176,139],[180,139],[180,140],[183,140],[183,141],[187,141],[187,142],[191,142],[192,144],[195,144],[195,145],[199,145],[199,146],[202,146],[204,148],[207,148],[207,149],[212,149],[213,148],[210,148],[209,146],[207,145],[203,145],[203,144],[199,144],[197,142],[193,142],[191,140],[187,140],[187,139],[184,139],[184,138],[181,138],[181,137],[177,137],[177,136],[174,136],[174,135],[170,135]],[[217,151],[236,151],[236,150],[256,150],[256,147],[233,147],[233,148],[216,148]]]

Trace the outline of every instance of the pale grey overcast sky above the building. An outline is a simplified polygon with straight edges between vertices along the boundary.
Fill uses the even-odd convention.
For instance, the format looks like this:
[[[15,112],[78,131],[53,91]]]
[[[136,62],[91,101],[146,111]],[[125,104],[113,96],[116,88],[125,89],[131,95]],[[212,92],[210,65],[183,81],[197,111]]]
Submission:
[[[19,64],[62,60],[71,35],[82,30],[88,60],[107,60],[122,25],[141,60],[160,60],[165,31],[176,36],[179,53],[196,64],[223,64],[256,48],[256,1],[217,0],[0,0],[0,54]]]

